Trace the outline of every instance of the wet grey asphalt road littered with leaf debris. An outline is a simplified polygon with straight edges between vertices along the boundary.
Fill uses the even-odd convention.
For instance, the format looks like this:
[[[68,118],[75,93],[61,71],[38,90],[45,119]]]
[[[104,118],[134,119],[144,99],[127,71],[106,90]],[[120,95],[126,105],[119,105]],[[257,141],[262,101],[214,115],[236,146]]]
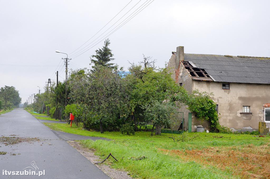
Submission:
[[[72,135],[65,138],[63,133],[53,132],[25,110],[13,110],[0,115],[0,137],[12,137],[11,135],[38,137],[40,140],[7,146],[0,143],[0,152],[7,152],[5,155],[0,155],[0,179],[110,178],[65,141],[65,139],[80,138]],[[45,175],[40,177],[38,175],[3,175],[3,170],[24,171],[26,167],[34,168],[31,165],[32,161],[35,161],[38,167],[37,173],[45,170]],[[32,168],[26,170],[29,171]]]

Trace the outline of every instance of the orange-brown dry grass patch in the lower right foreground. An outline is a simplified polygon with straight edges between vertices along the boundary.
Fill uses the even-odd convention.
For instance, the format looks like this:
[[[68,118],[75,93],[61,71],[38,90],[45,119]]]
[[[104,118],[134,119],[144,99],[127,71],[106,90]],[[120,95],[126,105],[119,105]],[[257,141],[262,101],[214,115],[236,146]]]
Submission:
[[[211,147],[203,150],[160,150],[185,161],[229,170],[241,178],[270,178],[270,144]]]

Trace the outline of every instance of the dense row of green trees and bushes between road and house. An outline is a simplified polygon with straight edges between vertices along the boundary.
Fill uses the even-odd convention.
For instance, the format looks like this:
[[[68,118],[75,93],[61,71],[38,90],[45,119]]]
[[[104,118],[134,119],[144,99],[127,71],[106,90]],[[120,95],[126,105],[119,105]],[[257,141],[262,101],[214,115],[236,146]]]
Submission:
[[[80,118],[84,128],[120,130],[123,133],[136,132],[138,126],[152,123],[159,135],[162,126],[176,121],[177,107],[188,105],[199,120],[207,120],[211,128],[218,128],[218,115],[211,95],[194,91],[189,94],[176,84],[165,68],[155,65],[156,60],[143,56],[139,64],[130,64],[124,71],[110,63],[113,58],[106,39],[102,49],[91,56],[92,69],[71,71],[68,78],[68,105],[65,107],[65,83],[46,89],[37,95],[33,106],[36,110],[50,104],[51,107],[65,107],[65,113]],[[56,98],[58,105],[56,106]],[[52,111],[53,112],[53,111]]]

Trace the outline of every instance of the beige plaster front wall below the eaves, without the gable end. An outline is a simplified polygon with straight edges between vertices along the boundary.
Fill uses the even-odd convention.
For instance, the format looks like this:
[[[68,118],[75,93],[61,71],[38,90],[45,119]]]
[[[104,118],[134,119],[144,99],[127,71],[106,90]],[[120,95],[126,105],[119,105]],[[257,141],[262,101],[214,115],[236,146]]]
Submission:
[[[230,89],[222,89],[222,82],[193,80],[192,84],[193,89],[213,92],[220,125],[233,130],[258,130],[259,122],[264,122],[263,105],[270,102],[269,84],[230,83]],[[241,114],[243,106],[250,106],[252,114]]]

